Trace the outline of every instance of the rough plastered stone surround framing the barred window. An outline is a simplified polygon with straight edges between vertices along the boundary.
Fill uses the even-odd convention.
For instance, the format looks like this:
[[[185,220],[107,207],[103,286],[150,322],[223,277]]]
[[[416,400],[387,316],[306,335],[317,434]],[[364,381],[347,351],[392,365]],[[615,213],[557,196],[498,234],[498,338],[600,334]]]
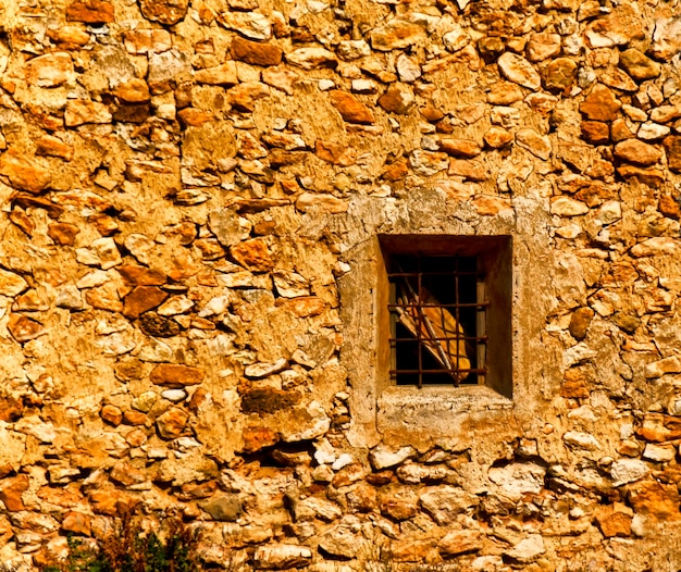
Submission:
[[[475,438],[472,434],[475,426],[516,424],[522,410],[532,409],[531,395],[536,389],[529,381],[528,370],[533,368],[527,358],[532,326],[525,324],[522,335],[518,334],[523,329],[520,324],[528,318],[521,313],[523,304],[532,303],[536,296],[536,279],[531,288],[527,279],[529,274],[536,278],[530,268],[529,250],[533,244],[545,244],[547,239],[547,225],[540,225],[541,236],[536,225],[537,219],[545,222],[542,215],[545,206],[532,200],[532,204],[524,204],[530,207],[528,210],[519,212],[509,208],[495,215],[479,216],[470,203],[457,206],[443,199],[433,189],[414,190],[403,200],[362,198],[352,201],[344,217],[342,227],[348,240],[344,245],[344,260],[350,270],[338,281],[344,322],[340,359],[351,388],[348,438],[354,446],[372,447],[383,442],[418,448],[466,447]],[[538,217],[533,212],[537,208]],[[438,215],[429,216],[424,212]],[[381,274],[385,269],[379,236],[384,234],[511,237],[512,363],[508,395],[512,398],[480,385],[421,389],[391,385],[387,369],[382,365],[389,363],[389,345],[380,343],[381,328],[385,327],[380,324],[381,314],[387,313],[382,309],[388,303],[387,288],[381,287],[386,276]]]

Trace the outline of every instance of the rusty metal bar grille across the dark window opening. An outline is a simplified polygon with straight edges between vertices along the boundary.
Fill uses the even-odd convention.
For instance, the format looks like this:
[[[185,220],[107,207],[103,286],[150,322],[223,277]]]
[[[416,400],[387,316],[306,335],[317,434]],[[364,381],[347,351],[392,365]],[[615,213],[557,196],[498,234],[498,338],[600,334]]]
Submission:
[[[393,381],[484,384],[488,302],[476,257],[392,254],[388,282]]]

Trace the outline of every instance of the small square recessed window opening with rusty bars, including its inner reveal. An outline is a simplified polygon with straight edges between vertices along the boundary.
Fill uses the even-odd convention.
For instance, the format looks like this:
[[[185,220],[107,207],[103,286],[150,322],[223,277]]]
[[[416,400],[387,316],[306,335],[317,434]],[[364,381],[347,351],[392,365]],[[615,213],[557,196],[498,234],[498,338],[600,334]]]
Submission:
[[[389,385],[484,385],[510,397],[510,237],[382,235],[380,243]]]

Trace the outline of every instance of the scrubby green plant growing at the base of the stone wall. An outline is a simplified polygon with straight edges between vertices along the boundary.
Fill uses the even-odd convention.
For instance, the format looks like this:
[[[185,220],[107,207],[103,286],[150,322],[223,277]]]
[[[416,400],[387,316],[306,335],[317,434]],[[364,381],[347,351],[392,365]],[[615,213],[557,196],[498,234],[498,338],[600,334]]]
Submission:
[[[67,537],[69,557],[41,572],[197,572],[197,537],[179,519],[166,517],[160,531],[147,532],[126,512],[96,546]]]

